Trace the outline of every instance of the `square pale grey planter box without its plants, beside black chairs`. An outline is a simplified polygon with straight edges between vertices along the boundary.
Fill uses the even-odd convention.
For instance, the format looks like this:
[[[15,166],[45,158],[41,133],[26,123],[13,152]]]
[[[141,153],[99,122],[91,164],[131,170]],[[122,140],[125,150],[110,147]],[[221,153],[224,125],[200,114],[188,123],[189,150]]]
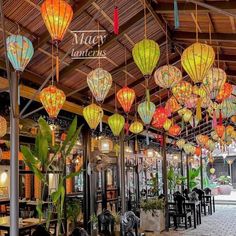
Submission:
[[[160,233],[165,230],[165,216],[162,210],[140,213],[141,229],[144,231]]]

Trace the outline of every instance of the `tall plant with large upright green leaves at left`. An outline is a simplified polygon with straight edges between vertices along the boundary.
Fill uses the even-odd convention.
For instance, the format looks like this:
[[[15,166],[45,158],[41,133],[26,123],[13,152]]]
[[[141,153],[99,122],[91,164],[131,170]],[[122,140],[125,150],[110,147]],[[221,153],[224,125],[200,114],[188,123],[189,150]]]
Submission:
[[[73,172],[68,175],[64,173],[66,158],[69,156],[72,148],[75,146],[82,126],[77,129],[77,117],[75,117],[69,127],[65,141],[59,144],[54,144],[52,140],[51,129],[46,120],[39,118],[38,125],[39,129],[35,138],[34,148],[30,149],[28,146],[21,146],[21,151],[24,156],[25,164],[42,181],[42,195],[36,208],[40,221],[43,217],[43,196],[46,186],[48,186],[47,174],[58,173],[58,171],[61,173],[59,174],[57,189],[51,194],[52,204],[57,212],[57,235],[60,235],[64,211],[65,181],[67,178],[75,177],[80,173]],[[51,214],[52,212],[48,212],[47,227],[49,227]]]

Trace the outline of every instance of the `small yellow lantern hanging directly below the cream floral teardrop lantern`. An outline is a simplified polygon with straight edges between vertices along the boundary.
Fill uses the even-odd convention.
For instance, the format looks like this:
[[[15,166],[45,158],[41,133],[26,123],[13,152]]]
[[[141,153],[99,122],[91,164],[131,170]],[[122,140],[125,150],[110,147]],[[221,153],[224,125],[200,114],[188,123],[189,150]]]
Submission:
[[[90,129],[95,130],[103,117],[103,110],[100,106],[92,103],[83,109],[83,116]]]

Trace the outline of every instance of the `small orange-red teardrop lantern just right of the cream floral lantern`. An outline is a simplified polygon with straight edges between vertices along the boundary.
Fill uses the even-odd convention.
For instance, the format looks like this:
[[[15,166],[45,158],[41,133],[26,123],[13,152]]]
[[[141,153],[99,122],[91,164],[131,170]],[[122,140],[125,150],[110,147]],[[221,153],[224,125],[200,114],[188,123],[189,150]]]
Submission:
[[[124,112],[128,113],[135,99],[135,91],[131,88],[124,87],[117,92],[116,96]]]

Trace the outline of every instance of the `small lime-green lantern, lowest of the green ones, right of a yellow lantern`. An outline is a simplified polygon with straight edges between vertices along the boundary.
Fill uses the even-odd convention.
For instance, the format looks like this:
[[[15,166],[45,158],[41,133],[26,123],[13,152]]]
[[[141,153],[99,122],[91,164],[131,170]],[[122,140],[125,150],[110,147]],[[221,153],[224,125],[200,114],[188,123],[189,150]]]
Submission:
[[[108,118],[108,125],[113,135],[119,136],[121,130],[124,128],[125,118],[122,115],[115,113]]]

